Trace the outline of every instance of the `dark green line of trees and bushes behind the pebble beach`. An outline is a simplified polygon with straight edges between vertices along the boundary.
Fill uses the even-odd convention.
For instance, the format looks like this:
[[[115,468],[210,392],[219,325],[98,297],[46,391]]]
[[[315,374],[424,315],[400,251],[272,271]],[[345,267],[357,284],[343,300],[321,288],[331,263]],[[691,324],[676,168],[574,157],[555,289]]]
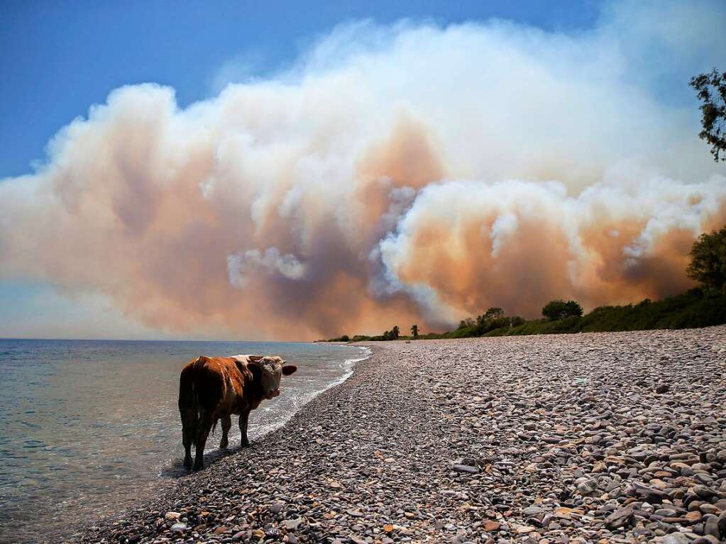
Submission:
[[[375,340],[499,337],[515,334],[563,334],[573,332],[643,331],[649,329],[694,329],[726,323],[726,227],[702,234],[690,252],[688,276],[701,287],[653,302],[645,299],[627,306],[600,306],[587,315],[574,300],[552,300],[542,308],[542,318],[526,321],[506,316],[502,308],[489,308],[481,316],[467,318],[454,331],[401,336],[393,326],[379,336],[357,334],[320,342],[370,342]]]

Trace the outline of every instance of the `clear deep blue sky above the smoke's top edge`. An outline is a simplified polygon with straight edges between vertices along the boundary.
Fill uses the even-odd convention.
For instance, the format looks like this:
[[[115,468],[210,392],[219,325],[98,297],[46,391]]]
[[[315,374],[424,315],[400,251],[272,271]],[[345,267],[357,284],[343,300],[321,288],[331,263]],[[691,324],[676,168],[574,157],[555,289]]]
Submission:
[[[173,86],[180,105],[215,94],[225,67],[266,73],[343,22],[401,18],[587,28],[594,1],[4,1],[0,178],[28,173],[56,131],[118,86]]]

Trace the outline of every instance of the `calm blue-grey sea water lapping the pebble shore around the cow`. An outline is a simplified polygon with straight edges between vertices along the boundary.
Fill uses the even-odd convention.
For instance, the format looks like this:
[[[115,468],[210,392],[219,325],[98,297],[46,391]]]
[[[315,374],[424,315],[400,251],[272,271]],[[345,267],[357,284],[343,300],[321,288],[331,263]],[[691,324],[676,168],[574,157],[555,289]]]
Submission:
[[[361,348],[282,342],[0,340],[0,541],[36,542],[128,506],[181,467],[179,371],[197,355],[298,365],[250,416],[250,440],[345,379]],[[208,440],[213,462],[221,432]],[[240,442],[236,417],[230,446]]]

